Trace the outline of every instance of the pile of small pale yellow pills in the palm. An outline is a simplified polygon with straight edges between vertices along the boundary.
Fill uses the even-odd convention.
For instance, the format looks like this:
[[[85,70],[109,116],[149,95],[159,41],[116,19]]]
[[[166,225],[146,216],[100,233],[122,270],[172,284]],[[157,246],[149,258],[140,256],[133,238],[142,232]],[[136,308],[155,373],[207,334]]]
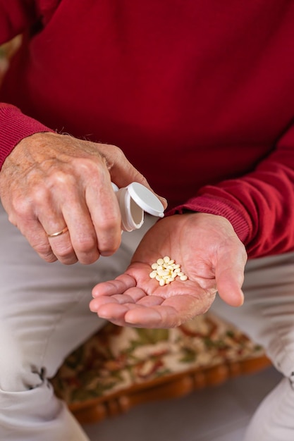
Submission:
[[[152,272],[149,273],[149,277],[159,281],[160,286],[169,285],[169,283],[176,280],[178,277],[180,280],[187,280],[188,277],[180,270],[180,265],[175,263],[169,256],[164,256],[157,259],[152,263]]]

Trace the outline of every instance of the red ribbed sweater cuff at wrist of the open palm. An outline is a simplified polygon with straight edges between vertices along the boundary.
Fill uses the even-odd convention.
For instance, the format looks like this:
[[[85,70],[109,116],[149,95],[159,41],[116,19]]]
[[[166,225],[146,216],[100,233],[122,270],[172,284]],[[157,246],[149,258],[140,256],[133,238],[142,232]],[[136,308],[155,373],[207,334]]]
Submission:
[[[228,219],[233,225],[236,235],[243,244],[247,244],[250,238],[250,223],[245,218],[244,213],[240,213],[235,206],[232,206],[228,201],[223,199],[216,199],[207,195],[189,199],[185,204],[176,206],[166,213],[166,216],[173,214],[183,214],[186,211],[198,211],[200,213],[215,214],[216,216],[223,216]]]

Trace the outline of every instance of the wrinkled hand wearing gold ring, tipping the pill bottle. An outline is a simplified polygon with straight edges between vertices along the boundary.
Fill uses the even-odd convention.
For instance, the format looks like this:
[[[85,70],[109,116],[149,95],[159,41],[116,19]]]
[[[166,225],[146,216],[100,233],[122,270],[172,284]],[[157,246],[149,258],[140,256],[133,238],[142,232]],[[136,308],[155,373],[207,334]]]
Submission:
[[[4,161],[0,196],[9,220],[48,262],[93,263],[121,244],[121,213],[111,187],[145,178],[121,149],[51,132],[18,143]],[[68,231],[56,237],[47,234]]]

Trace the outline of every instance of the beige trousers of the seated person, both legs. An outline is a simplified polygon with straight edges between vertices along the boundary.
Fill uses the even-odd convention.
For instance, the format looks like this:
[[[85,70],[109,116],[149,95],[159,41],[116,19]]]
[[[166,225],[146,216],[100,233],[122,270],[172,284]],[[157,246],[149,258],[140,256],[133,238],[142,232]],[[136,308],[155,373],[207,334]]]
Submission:
[[[140,230],[123,233],[110,258],[63,266],[42,261],[0,206],[0,440],[87,440],[48,378],[102,326],[89,310],[92,287],[128,266],[153,222],[147,217]],[[244,290],[240,309],[216,299],[213,310],[263,344],[285,375],[257,411],[246,441],[293,441],[294,254],[247,263]]]

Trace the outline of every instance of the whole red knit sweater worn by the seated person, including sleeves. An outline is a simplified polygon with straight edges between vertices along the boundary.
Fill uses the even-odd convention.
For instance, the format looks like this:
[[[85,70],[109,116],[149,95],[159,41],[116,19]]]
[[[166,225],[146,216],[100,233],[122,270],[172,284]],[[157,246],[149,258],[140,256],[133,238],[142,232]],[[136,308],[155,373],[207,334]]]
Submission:
[[[250,256],[294,249],[294,1],[0,0],[0,43],[20,32],[1,163],[49,128],[116,144]]]

